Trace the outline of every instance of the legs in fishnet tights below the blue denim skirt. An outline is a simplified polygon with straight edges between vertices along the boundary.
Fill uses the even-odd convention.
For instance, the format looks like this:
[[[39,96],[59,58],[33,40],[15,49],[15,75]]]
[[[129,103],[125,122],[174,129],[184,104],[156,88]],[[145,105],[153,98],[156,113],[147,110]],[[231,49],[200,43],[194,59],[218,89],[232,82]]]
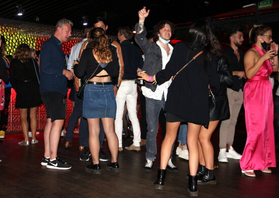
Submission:
[[[99,164],[100,151],[100,118],[87,119],[89,127],[89,149],[93,164]],[[114,130],[114,118],[101,118],[104,134],[106,134],[109,149],[112,155],[112,162],[117,162],[118,138]]]

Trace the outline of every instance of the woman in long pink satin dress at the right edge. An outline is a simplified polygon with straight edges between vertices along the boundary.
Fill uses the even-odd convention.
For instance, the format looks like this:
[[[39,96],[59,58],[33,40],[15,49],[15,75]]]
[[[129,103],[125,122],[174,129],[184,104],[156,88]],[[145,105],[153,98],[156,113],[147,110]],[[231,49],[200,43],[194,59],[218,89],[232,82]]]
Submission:
[[[255,177],[254,170],[271,173],[269,167],[276,167],[274,106],[269,76],[278,71],[278,56],[274,56],[278,53],[278,45],[271,43],[272,31],[265,25],[255,25],[250,30],[249,41],[253,46],[244,58],[248,82],[243,91],[247,140],[240,168],[245,175]],[[266,51],[270,44],[274,44],[276,52]]]

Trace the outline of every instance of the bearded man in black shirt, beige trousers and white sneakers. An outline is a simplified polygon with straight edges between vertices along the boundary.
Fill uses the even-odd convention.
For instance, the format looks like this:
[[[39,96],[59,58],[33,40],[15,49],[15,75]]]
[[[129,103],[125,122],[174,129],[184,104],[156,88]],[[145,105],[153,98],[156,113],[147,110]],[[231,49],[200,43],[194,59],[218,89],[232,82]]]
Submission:
[[[234,151],[232,143],[237,117],[243,103],[243,87],[246,78],[243,63],[244,53],[240,49],[243,42],[243,33],[239,28],[233,28],[228,36],[230,46],[225,50],[224,54],[229,60],[230,70],[233,75],[233,84],[227,88],[230,119],[222,121],[220,126],[219,162],[228,162],[227,158],[236,160],[241,158],[241,155]]]

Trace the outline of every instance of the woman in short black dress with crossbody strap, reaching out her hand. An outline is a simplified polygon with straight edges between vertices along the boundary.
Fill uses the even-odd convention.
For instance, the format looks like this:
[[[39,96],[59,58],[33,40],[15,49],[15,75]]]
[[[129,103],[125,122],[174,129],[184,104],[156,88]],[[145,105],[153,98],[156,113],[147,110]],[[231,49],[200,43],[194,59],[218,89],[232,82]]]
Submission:
[[[213,38],[214,34],[206,22],[195,22],[189,29],[187,40],[176,44],[164,70],[159,71],[155,76],[138,74],[143,77],[142,79],[162,84],[175,76],[193,57],[203,51],[173,79],[168,88],[164,109],[166,111],[166,135],[161,147],[158,178],[154,183],[157,189],[163,187],[167,162],[180,123],[188,122],[187,144],[190,168],[188,191],[190,196],[197,196],[198,137],[201,127],[208,127],[210,121],[205,63],[212,59],[216,51]]]

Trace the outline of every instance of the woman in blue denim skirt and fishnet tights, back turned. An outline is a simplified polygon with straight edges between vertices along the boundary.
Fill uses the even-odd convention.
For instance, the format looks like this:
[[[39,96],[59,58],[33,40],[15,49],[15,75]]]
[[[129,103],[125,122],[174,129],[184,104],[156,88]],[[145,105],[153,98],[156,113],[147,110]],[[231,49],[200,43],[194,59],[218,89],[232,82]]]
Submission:
[[[86,170],[95,174],[101,173],[100,120],[112,155],[111,163],[106,166],[106,169],[119,172],[118,138],[114,130],[116,101],[113,87],[117,87],[119,63],[113,47],[104,30],[94,28],[89,32],[88,47],[83,51],[80,62],[74,63],[75,75],[89,79],[84,89],[83,117],[87,118],[89,126],[89,149],[93,161]]]

